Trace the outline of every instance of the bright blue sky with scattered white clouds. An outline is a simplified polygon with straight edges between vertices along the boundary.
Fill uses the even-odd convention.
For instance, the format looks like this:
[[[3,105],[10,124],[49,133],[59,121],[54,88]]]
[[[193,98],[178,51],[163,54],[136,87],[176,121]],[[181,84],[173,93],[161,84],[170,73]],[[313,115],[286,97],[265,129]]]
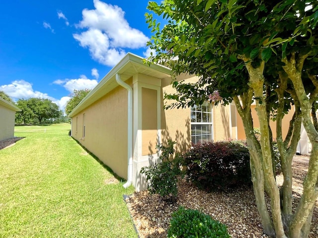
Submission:
[[[128,52],[147,57],[148,0],[8,0],[0,7],[0,91],[65,107]]]

